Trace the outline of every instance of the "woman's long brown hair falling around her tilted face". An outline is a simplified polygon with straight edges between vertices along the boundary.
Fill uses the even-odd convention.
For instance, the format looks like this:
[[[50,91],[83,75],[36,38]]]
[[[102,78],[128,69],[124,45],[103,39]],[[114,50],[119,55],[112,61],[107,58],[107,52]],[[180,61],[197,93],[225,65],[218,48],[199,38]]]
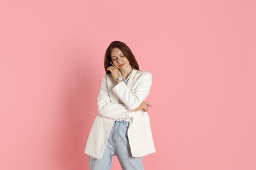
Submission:
[[[131,67],[133,69],[139,70],[139,64],[138,64],[137,60],[135,59],[133,52],[131,52],[131,49],[129,48],[129,46],[127,46],[127,44],[125,44],[121,41],[113,41],[110,43],[110,45],[108,46],[106,53],[105,53],[104,67],[105,67],[106,75],[110,74],[110,71],[108,71],[107,69],[108,69],[108,67],[111,66],[110,53],[113,48],[119,48],[119,50],[121,50],[121,52],[123,52],[123,55],[128,59]]]

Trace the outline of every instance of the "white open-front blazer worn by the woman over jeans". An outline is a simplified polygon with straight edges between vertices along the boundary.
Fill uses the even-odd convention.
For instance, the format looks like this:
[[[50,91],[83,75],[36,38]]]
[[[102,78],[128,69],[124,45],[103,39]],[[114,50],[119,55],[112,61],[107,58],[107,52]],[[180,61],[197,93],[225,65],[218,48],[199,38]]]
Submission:
[[[128,139],[133,157],[142,157],[156,152],[150,119],[147,112],[133,109],[146,99],[152,85],[152,75],[146,71],[133,69],[128,84],[116,84],[112,75],[102,79],[98,94],[98,115],[91,127],[85,153],[100,159],[106,148],[108,136],[117,118],[129,118]],[[120,104],[119,100],[123,104]]]

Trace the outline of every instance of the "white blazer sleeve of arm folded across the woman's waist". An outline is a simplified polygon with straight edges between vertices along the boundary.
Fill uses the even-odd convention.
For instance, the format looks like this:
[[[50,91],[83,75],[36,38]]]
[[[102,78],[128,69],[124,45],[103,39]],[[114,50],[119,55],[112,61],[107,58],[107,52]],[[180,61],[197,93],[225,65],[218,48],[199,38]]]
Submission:
[[[100,93],[98,94],[98,114],[107,118],[117,119],[129,118],[130,112],[131,110],[127,109],[125,105],[112,103],[110,101],[106,76],[104,76],[100,87]]]

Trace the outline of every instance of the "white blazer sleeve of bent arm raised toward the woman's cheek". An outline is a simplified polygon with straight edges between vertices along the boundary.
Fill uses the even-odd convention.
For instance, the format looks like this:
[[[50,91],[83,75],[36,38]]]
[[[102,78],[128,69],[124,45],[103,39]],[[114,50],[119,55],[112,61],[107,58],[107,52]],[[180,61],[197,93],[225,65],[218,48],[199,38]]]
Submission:
[[[152,74],[144,71],[131,90],[124,82],[117,84],[112,90],[129,110],[136,109],[148,97],[152,86]]]

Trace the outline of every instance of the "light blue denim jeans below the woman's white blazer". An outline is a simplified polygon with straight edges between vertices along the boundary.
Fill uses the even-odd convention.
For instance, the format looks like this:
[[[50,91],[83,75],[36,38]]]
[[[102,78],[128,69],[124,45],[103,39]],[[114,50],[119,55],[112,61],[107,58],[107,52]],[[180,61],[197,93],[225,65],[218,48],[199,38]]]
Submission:
[[[110,170],[116,155],[123,170],[143,170],[141,158],[133,158],[127,137],[129,122],[115,121],[101,159],[89,157],[90,170]]]

